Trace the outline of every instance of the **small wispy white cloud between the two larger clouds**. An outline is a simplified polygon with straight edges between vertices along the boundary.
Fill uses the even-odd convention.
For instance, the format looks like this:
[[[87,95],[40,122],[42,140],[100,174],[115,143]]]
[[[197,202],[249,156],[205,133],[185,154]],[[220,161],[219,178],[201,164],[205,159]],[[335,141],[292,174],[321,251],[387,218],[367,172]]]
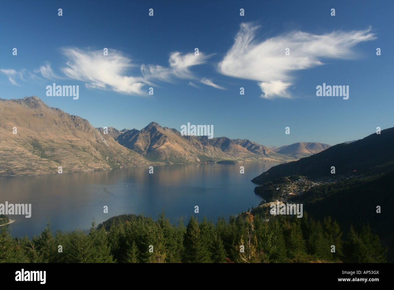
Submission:
[[[163,67],[161,65],[142,65],[141,72],[144,80],[148,83],[150,83],[152,79],[173,82],[174,77],[180,79],[194,79],[195,77],[193,73],[191,73],[190,67],[205,63],[211,56],[212,55],[205,55],[203,52],[199,52],[199,55],[188,53],[183,56],[180,52],[173,52],[168,60],[169,67]]]

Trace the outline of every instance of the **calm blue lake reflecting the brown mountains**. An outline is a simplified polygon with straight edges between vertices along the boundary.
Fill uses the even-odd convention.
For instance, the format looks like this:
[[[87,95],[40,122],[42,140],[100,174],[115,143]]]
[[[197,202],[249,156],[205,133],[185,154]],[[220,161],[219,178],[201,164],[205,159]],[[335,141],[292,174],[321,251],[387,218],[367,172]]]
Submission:
[[[125,213],[151,215],[165,211],[171,223],[191,215],[217,218],[246,211],[262,200],[252,178],[281,163],[173,164],[41,176],[0,176],[0,203],[32,204],[32,216],[9,215],[13,236],[40,234],[50,219],[54,232],[87,230]],[[240,174],[240,166],[245,174]],[[108,213],[103,212],[108,206]],[[199,206],[199,213],[194,207]],[[185,221],[184,221],[185,223]],[[186,223],[185,223],[186,224]]]

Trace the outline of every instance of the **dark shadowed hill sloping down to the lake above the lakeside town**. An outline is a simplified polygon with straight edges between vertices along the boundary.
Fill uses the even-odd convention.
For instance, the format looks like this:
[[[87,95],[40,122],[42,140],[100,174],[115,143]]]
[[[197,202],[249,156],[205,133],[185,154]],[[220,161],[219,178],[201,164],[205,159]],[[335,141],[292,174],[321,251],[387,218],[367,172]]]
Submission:
[[[282,176],[304,175],[309,177],[333,176],[336,174],[373,174],[394,168],[394,128],[373,133],[361,140],[341,143],[317,153],[286,164],[277,165],[267,172],[253,178],[254,183],[262,184]],[[356,170],[356,172],[353,172]]]

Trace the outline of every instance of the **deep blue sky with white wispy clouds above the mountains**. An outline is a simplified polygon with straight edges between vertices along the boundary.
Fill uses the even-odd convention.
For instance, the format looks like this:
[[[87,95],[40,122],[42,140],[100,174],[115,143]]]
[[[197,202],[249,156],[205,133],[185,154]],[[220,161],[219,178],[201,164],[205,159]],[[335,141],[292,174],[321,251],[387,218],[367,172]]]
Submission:
[[[363,138],[393,127],[393,3],[4,1],[0,97],[36,95],[95,127],[190,122],[275,146]],[[79,99],[46,96],[53,82]],[[323,83],[349,99],[317,97]]]

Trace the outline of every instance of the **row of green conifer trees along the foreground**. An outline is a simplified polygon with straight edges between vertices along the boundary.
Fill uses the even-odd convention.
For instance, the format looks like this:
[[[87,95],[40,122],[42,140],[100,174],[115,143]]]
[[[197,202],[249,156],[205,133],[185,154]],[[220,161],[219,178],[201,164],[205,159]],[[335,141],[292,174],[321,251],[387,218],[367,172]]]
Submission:
[[[335,248],[333,248],[335,246]],[[335,249],[335,251],[333,251]],[[216,225],[204,217],[171,225],[164,212],[154,221],[143,215],[113,217],[89,233],[52,234],[50,223],[39,236],[12,238],[0,230],[0,262],[50,263],[260,263],[386,262],[386,251],[368,224],[350,227],[343,239],[330,217],[315,221],[295,216],[231,216]]]

